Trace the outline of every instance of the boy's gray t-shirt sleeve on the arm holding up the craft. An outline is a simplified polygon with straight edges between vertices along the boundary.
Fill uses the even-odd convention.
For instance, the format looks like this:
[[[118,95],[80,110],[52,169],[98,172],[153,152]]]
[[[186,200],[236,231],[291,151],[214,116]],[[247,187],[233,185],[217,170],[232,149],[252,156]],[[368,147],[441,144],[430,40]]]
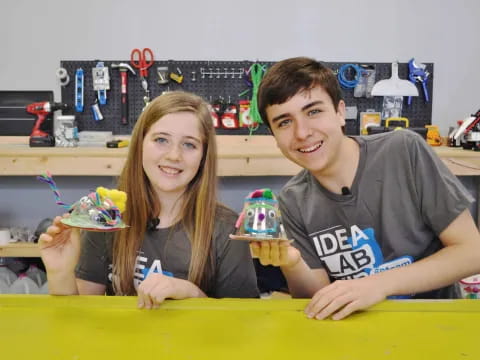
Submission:
[[[278,204],[282,214],[282,222],[285,232],[289,239],[294,240],[292,245],[295,246],[302,255],[303,260],[311,269],[322,269],[323,263],[315,252],[312,241],[308,237],[304,225],[301,222],[301,213],[298,208],[297,201],[290,194],[292,189],[284,189],[279,197]]]

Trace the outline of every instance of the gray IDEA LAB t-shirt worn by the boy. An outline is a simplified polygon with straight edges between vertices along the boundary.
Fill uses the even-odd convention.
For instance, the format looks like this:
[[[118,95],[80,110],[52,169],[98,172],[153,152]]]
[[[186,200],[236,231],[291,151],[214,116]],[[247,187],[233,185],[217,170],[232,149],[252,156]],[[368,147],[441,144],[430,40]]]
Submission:
[[[438,235],[473,197],[420,136],[402,130],[354,137],[360,160],[351,194],[334,194],[306,170],[279,195],[287,235],[331,280],[406,266],[442,247]],[[456,297],[445,288],[419,298]]]

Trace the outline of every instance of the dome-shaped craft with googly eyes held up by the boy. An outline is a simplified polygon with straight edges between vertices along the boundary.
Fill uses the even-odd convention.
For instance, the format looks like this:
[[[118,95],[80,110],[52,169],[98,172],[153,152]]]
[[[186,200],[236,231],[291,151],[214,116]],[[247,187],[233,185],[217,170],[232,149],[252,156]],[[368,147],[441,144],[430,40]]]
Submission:
[[[278,201],[268,188],[255,190],[245,198],[235,227],[235,235],[230,235],[232,240],[289,241],[283,229]]]

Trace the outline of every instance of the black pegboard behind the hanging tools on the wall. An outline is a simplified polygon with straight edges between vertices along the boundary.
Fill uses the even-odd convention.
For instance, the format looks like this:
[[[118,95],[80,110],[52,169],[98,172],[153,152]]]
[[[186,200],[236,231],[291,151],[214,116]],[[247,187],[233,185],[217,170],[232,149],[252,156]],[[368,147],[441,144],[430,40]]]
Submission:
[[[61,61],[60,66],[67,70],[70,82],[66,86],[62,86],[62,102],[69,105],[69,110],[64,111],[65,114],[74,114],[77,119],[77,125],[82,130],[112,131],[114,134],[130,134],[138,116],[144,107],[143,97],[145,95],[138,75],[128,72],[128,124],[123,125],[120,121],[121,114],[121,94],[120,94],[120,71],[113,69],[112,64],[128,63],[128,60],[103,61],[105,66],[109,68],[110,90],[107,91],[107,103],[100,105],[100,111],[104,117],[101,121],[95,121],[93,118],[91,105],[94,104],[96,92],[93,90],[92,68],[95,67],[98,60],[94,61]],[[259,61],[260,64],[270,67],[274,62]],[[251,91],[248,83],[243,75],[250,66],[254,64],[252,61],[176,61],[164,60],[155,61],[148,69],[148,87],[150,90],[150,98],[153,99],[164,91],[185,90],[193,92],[210,103],[223,99],[226,103],[238,103],[239,100],[248,100],[251,97]],[[345,63],[325,62],[326,66],[337,71]],[[362,63],[366,65],[375,65],[376,75],[375,81],[390,78],[391,63]],[[433,64],[426,63],[427,71],[430,73],[427,86],[430,96],[430,102],[425,103],[423,99],[423,91],[421,86],[417,84],[420,96],[414,97],[412,104],[407,106],[407,98],[404,98],[402,116],[410,120],[411,127],[423,127],[431,124],[432,114],[432,98],[433,98]],[[158,83],[157,67],[166,66],[169,71],[178,72],[180,69],[184,79],[181,84],[170,80],[168,84],[162,85]],[[82,68],[84,71],[84,110],[83,112],[75,112],[75,71]],[[408,64],[400,63],[398,65],[398,73],[401,79],[408,78]],[[347,73],[348,76],[348,73]],[[353,96],[353,89],[342,89],[344,99],[347,106],[356,106],[358,114],[367,109],[382,110],[383,97],[373,98],[356,98]],[[239,96],[239,94],[242,94]],[[248,128],[239,129],[223,129],[218,128],[217,134],[221,135],[246,135],[249,134]],[[265,125],[261,125],[254,134],[268,134],[269,130]],[[359,121],[357,119],[347,120],[346,133],[348,135],[359,134]]]

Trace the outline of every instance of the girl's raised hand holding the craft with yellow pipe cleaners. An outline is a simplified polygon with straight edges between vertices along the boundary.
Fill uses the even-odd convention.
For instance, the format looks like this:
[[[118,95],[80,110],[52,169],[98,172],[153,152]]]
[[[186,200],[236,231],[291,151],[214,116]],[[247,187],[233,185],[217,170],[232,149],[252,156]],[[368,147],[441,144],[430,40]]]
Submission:
[[[38,239],[40,256],[49,274],[73,272],[80,256],[80,230],[65,226],[61,220],[55,217]]]

